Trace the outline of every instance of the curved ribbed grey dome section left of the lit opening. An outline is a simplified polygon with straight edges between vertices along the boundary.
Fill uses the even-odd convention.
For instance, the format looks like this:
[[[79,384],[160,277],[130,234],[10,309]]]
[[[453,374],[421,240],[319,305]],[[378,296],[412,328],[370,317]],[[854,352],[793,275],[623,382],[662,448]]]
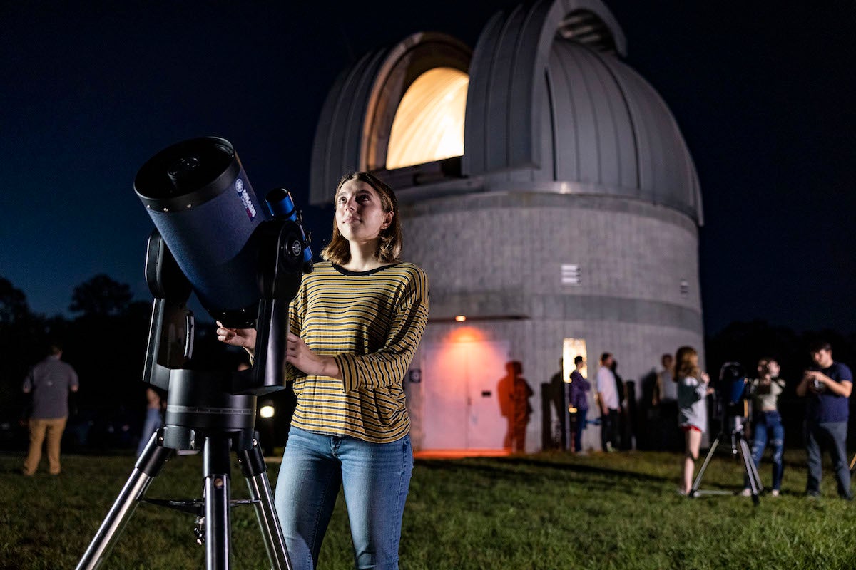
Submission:
[[[309,202],[330,203],[342,174],[360,169],[366,106],[387,50],[366,54],[340,73],[324,101],[312,144]]]

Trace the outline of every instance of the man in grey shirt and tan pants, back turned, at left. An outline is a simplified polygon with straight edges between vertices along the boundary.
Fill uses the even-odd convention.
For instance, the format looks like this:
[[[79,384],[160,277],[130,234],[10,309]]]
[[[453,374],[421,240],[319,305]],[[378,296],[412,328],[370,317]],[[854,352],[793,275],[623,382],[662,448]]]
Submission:
[[[51,354],[30,368],[22,390],[33,394],[33,412],[28,422],[30,448],[21,473],[33,475],[42,459],[42,444],[47,441],[48,473],[58,475],[62,432],[68,421],[68,392],[79,388],[77,373],[62,361],[62,346],[51,345]]]

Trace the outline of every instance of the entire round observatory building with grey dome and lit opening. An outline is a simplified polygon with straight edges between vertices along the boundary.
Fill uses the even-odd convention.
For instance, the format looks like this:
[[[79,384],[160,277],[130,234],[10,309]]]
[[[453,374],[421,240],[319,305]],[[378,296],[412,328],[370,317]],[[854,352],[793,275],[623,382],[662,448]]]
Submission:
[[[416,33],[331,88],[312,203],[330,203],[342,173],[377,173],[402,205],[405,258],[431,278],[405,379],[416,449],[506,450],[510,362],[535,392],[526,449],[538,450],[560,360],[568,379],[586,356],[593,380],[611,352],[639,380],[681,344],[703,349],[698,177],[622,56],[603,3],[545,0],[494,15],[473,50]],[[597,427],[584,444],[599,445]]]

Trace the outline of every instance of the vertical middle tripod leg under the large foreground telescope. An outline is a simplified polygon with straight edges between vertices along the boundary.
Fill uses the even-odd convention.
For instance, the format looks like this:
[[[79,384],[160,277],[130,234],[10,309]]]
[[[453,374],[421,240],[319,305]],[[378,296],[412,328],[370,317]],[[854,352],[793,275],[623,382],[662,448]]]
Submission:
[[[202,457],[205,471],[205,567],[208,570],[228,570],[231,538],[229,438],[206,437]]]

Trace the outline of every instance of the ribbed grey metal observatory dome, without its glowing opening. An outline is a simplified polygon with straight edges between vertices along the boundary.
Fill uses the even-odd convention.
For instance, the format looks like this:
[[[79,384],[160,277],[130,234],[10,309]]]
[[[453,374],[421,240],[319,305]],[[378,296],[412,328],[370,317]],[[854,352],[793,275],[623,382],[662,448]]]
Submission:
[[[504,191],[526,180],[526,191],[637,198],[701,223],[687,144],[657,91],[621,62],[624,53],[621,27],[602,3],[560,0],[495,15],[472,53],[454,38],[419,33],[367,54],[324,105],[312,203],[329,202],[343,172],[373,170],[405,203],[424,197],[418,186],[426,183]],[[462,156],[388,167],[395,111],[411,85],[439,68],[468,74]]]

